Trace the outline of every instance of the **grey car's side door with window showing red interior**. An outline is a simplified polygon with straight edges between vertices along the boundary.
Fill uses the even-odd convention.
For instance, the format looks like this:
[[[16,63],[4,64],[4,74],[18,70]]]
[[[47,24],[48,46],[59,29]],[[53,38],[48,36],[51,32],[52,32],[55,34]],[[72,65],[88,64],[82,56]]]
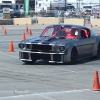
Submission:
[[[82,30],[87,30],[88,37],[82,37]],[[84,32],[86,35],[86,33]],[[95,44],[96,38],[91,37],[91,33],[89,29],[81,29],[80,30],[80,36],[77,44],[77,50],[78,50],[78,58],[83,58],[87,56],[91,56],[93,53],[93,46]]]

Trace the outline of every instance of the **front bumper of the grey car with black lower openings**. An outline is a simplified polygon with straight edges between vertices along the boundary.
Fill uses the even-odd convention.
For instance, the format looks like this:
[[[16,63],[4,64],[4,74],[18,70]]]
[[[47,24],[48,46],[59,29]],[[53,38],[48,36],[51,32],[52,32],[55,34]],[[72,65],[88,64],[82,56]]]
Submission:
[[[34,58],[48,60],[49,62],[67,62],[67,53],[19,51],[19,59],[22,61],[32,61]]]

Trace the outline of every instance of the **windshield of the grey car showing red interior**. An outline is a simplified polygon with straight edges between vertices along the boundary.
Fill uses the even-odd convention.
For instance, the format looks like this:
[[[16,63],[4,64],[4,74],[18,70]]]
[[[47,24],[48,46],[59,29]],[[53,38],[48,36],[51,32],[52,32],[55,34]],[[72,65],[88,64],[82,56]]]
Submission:
[[[40,36],[78,38],[78,29],[72,27],[47,27]]]

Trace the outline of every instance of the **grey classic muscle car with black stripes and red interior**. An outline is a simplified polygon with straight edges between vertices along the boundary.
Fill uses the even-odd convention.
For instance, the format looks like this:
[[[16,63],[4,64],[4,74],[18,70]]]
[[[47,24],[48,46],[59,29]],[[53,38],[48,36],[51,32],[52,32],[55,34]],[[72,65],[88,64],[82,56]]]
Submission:
[[[38,38],[18,44],[19,59],[26,63],[47,60],[76,63],[85,57],[100,57],[100,36],[91,29],[71,24],[47,26]]]

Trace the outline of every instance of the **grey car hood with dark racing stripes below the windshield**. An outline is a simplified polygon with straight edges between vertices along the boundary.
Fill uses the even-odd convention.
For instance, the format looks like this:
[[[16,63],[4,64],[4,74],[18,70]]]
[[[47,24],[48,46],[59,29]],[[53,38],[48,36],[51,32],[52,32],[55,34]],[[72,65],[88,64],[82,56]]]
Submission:
[[[76,39],[65,39],[65,38],[50,38],[50,37],[38,37],[24,40],[24,43],[33,43],[33,44],[59,44],[64,45],[65,43],[69,43],[72,41],[76,41]]]

